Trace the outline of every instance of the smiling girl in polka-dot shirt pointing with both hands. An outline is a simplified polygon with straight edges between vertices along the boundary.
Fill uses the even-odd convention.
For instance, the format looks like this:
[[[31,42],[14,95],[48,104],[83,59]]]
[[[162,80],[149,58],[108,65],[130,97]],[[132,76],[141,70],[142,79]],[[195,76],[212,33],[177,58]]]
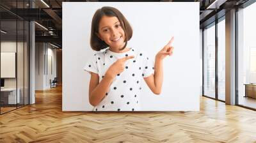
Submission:
[[[131,37],[132,27],[116,8],[105,6],[93,15],[90,44],[100,52],[84,67],[91,74],[93,111],[140,110],[142,79],[154,94],[161,93],[163,59],[172,55],[173,38],[156,54],[154,64],[145,52],[127,47]]]

